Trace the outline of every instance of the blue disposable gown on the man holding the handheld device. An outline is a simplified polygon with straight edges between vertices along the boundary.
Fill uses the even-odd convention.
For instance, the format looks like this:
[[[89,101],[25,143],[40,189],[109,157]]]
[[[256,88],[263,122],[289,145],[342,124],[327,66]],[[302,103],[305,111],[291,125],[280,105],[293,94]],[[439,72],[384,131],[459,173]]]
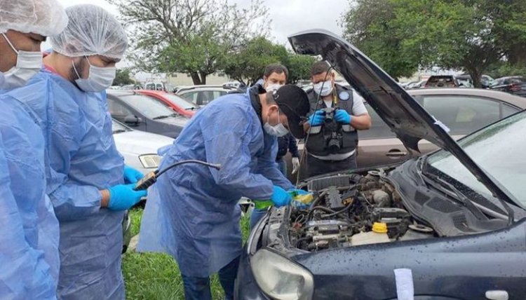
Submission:
[[[46,139],[47,192],[60,221],[59,299],[124,299],[123,212],[100,208],[99,190],[124,182],[106,94],[45,70],[10,94]]]

